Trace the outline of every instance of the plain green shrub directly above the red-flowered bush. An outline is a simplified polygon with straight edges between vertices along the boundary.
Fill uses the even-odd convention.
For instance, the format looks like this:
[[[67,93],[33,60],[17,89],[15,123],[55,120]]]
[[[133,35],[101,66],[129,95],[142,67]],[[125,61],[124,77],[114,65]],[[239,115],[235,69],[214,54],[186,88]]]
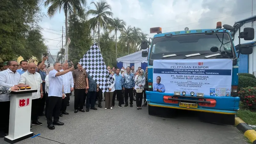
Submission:
[[[256,79],[248,76],[238,76],[238,91],[246,87],[256,87]]]

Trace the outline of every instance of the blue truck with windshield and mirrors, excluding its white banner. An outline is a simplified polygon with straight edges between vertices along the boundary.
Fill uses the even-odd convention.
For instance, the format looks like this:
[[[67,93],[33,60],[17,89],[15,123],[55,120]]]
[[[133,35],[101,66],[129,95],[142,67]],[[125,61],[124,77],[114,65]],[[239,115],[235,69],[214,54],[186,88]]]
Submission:
[[[236,50],[231,32],[239,29],[239,46]],[[208,123],[235,124],[235,114],[239,110],[240,98],[237,95],[238,58],[240,54],[252,54],[252,47],[240,44],[240,39],[253,40],[254,29],[221,25],[217,22],[215,29],[196,29],[162,33],[162,28],[150,28],[150,33],[157,33],[151,41],[141,42],[142,57],[148,57],[148,85],[146,100],[148,114],[161,117],[175,117],[180,111],[188,110],[199,114],[199,118]],[[195,55],[195,53],[201,53]],[[207,54],[207,55],[205,55]],[[228,96],[196,95],[194,92],[164,93],[153,91],[153,61],[154,60],[186,60],[192,59],[231,59],[233,61],[231,91]],[[217,65],[218,63],[216,63]],[[162,77],[164,79],[164,77]],[[217,80],[217,79],[216,79]],[[172,89],[172,87],[165,87]],[[186,102],[188,107],[179,103]],[[190,106],[191,105],[191,106]],[[196,107],[193,107],[196,106]]]

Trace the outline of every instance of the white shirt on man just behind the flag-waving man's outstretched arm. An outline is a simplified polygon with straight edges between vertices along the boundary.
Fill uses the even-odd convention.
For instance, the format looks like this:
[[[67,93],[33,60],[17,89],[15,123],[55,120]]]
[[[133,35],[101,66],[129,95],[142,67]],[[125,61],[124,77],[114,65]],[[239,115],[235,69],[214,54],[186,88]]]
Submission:
[[[64,71],[61,69],[60,71]],[[63,88],[64,88],[64,93],[70,93],[71,87],[74,88],[74,79],[72,72],[68,72],[65,75],[62,75],[63,78]]]

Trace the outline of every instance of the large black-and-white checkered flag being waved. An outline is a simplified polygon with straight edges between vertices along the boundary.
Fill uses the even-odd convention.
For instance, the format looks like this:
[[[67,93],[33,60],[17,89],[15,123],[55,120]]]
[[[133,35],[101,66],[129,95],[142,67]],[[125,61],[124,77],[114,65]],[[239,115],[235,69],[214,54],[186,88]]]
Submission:
[[[86,70],[87,74],[99,84],[102,92],[108,90],[108,71],[97,43],[94,43],[90,50],[84,54],[79,64]]]

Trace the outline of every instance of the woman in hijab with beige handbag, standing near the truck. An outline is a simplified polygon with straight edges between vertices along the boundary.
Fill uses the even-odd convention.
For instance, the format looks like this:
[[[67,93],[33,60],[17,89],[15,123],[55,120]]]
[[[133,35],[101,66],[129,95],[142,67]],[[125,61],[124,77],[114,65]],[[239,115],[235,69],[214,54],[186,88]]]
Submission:
[[[142,95],[143,95],[143,90],[144,86],[146,84],[146,78],[144,76],[144,70],[141,69],[138,75],[135,76],[134,81],[135,81],[135,87],[134,89],[136,90],[136,106],[137,109],[141,109],[141,104],[142,104]]]

